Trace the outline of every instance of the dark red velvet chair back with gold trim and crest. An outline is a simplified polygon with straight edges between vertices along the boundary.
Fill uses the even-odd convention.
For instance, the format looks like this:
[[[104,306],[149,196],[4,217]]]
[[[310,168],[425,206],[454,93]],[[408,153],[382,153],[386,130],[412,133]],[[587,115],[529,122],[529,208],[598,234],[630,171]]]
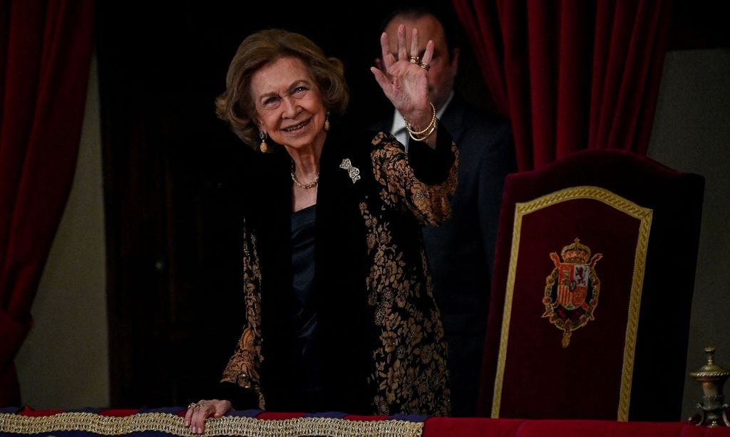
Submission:
[[[680,420],[703,192],[624,151],[507,176],[480,414]]]

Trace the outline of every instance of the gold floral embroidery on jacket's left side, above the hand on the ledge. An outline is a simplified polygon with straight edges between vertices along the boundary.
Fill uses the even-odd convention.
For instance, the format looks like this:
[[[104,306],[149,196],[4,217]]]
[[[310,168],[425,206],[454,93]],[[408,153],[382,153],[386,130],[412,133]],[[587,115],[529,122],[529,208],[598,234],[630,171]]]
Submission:
[[[247,232],[244,222],[243,280],[246,302],[246,326],[221,382],[232,382],[249,388],[258,394],[258,408],[265,409],[266,401],[261,393],[261,270],[258,265],[256,238]]]

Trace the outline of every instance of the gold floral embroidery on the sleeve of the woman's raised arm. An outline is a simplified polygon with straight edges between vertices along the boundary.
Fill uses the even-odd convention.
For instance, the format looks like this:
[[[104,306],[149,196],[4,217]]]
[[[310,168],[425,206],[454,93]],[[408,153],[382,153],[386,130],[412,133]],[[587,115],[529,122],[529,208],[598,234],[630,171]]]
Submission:
[[[451,194],[456,189],[458,149],[451,144],[454,165],[442,184],[426,185],[415,178],[403,146],[385,133],[373,138],[373,172],[375,180],[383,185],[380,197],[385,205],[407,208],[421,226],[438,226],[451,214]]]

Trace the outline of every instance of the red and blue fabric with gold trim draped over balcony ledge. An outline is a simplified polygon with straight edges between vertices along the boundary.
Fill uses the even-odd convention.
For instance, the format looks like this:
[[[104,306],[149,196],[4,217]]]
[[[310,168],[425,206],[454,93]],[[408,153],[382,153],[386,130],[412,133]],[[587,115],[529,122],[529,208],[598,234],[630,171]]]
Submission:
[[[76,416],[74,416],[74,414]],[[82,420],[74,417],[82,417]],[[0,409],[0,436],[191,436],[183,425],[185,409],[82,409],[34,411]],[[214,423],[218,425],[213,425]],[[318,414],[230,412],[210,420],[218,427],[206,436],[545,436],[545,437],[730,437],[728,428],[704,428],[689,422],[615,422],[611,420],[524,420],[483,417],[355,416],[341,412]],[[225,426],[223,426],[225,425]],[[96,427],[96,428],[92,428]],[[86,429],[86,430],[82,430]]]

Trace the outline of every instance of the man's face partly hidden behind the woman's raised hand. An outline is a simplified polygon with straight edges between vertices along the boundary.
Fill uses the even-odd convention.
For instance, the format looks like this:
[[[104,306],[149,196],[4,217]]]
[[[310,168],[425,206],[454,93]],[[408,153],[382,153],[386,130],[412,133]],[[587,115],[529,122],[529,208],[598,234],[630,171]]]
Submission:
[[[388,34],[388,44],[391,53],[398,59],[398,26],[406,26],[406,47],[410,47],[410,38],[413,28],[418,28],[418,55],[423,57],[426,51],[426,43],[429,39],[434,42],[434,58],[429,65],[429,98],[436,109],[440,109],[449,97],[454,86],[454,78],[458,71],[458,49],[454,50],[453,56],[449,56],[446,47],[444,29],[441,23],[432,15],[425,15],[416,19],[396,16],[385,27]]]

